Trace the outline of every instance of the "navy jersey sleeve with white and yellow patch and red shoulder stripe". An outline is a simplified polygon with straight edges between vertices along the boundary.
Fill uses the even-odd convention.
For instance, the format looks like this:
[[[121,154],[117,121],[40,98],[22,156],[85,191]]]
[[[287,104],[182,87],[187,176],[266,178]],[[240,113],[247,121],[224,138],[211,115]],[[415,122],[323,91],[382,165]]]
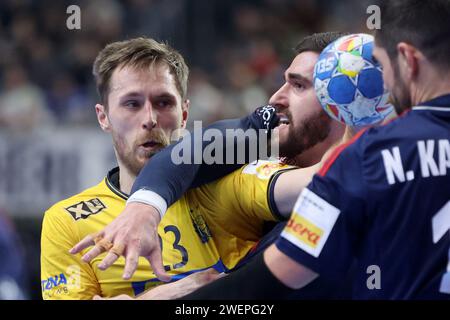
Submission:
[[[362,156],[356,144],[336,150],[301,193],[276,246],[332,282],[346,275],[367,220]]]

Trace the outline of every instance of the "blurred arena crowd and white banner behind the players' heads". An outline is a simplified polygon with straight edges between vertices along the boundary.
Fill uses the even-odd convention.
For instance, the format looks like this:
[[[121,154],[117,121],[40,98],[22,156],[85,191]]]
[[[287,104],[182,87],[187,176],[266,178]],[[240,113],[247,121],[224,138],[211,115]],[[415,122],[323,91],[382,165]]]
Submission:
[[[41,298],[44,211],[114,166],[91,75],[105,44],[145,35],[178,49],[191,68],[190,119],[210,123],[266,103],[302,36],[369,32],[373,2],[1,0],[0,299]],[[66,27],[73,4],[80,30]]]

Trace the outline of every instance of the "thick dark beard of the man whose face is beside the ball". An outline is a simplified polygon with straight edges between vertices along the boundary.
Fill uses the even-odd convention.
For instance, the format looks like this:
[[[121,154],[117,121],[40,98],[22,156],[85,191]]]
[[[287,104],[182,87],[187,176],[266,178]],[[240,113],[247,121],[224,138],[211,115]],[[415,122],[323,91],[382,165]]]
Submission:
[[[333,120],[322,109],[300,123],[292,121],[290,113],[286,116],[289,118],[289,131],[287,139],[280,142],[279,151],[284,163],[295,165],[295,158],[299,154],[328,137]]]

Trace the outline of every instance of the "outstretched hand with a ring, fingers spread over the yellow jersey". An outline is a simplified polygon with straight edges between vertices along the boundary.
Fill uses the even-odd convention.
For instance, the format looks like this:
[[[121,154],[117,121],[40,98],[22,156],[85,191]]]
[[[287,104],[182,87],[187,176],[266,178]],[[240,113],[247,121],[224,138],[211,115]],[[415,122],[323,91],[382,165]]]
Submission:
[[[164,271],[161,246],[158,238],[158,224],[161,220],[158,210],[139,202],[126,205],[125,210],[105,229],[86,236],[72,249],[71,254],[94,246],[83,257],[90,262],[99,254],[108,251],[99,264],[99,269],[109,268],[121,255],[125,257],[123,279],[128,280],[136,271],[138,258],[146,258],[159,280],[169,281]]]

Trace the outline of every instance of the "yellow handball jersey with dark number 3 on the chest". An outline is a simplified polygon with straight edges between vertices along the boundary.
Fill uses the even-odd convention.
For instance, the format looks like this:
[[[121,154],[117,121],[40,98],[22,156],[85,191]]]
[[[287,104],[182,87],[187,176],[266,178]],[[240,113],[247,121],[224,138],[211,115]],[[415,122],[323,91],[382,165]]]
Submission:
[[[233,268],[263,235],[263,223],[275,221],[273,181],[291,167],[258,161],[213,183],[188,191],[166,212],[158,227],[163,262],[173,281],[214,267]],[[68,251],[88,234],[111,223],[128,198],[119,189],[119,170],[97,186],[52,206],[44,215],[41,235],[41,287],[44,299],[91,299],[94,295],[136,296],[161,284],[148,261],[139,258],[136,272],[123,280],[125,258],[98,268],[106,253],[89,264]]]

